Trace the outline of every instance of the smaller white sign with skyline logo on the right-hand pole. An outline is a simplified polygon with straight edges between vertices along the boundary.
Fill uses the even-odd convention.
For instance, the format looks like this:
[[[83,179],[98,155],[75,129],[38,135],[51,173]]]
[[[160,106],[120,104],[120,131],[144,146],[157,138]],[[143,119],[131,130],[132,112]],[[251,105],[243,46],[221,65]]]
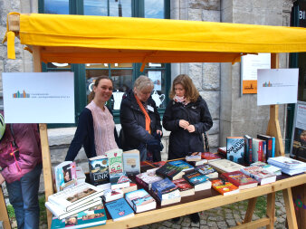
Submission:
[[[299,69],[259,69],[257,105],[296,103]]]

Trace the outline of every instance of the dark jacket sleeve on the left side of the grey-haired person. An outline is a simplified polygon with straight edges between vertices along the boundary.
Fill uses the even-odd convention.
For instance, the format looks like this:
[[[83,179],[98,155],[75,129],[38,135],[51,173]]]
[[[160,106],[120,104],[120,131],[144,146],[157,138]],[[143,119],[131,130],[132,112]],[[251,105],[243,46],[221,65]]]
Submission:
[[[148,140],[154,139],[154,137],[136,121],[133,110],[130,109],[127,100],[122,100],[121,102],[120,123],[123,131],[129,130],[129,134],[139,139],[140,142],[147,142]]]

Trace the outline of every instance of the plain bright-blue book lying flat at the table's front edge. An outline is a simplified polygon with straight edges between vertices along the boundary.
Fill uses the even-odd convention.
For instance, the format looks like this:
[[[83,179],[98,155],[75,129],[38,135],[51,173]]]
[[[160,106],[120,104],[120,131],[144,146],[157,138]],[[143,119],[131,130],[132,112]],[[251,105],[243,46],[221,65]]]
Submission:
[[[134,211],[124,198],[111,201],[105,204],[113,221],[124,220],[134,216]]]

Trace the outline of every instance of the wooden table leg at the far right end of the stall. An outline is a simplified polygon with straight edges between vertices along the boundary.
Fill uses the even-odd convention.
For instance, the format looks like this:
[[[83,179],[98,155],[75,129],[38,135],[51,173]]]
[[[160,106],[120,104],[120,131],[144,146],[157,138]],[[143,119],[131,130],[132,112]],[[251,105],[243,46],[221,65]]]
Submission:
[[[286,207],[288,227],[289,229],[298,228],[295,211],[294,211],[293,199],[292,199],[292,188],[283,189],[282,194]]]

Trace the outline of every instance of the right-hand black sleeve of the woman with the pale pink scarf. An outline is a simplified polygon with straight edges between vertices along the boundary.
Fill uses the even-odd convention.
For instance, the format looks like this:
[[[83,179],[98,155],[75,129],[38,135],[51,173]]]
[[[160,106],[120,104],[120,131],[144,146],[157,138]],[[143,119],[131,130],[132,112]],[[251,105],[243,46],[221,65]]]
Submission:
[[[208,110],[208,106],[206,104],[206,100],[201,99],[200,101],[200,122],[194,124],[195,126],[195,132],[197,134],[202,134],[206,132],[207,130],[211,129],[213,126],[213,119],[210,115],[210,112]]]

